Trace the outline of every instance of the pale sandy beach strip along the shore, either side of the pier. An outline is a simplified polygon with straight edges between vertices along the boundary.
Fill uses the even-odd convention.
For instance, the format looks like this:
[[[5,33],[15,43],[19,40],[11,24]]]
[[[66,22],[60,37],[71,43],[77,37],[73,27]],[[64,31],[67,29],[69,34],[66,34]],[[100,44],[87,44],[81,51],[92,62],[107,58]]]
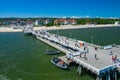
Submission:
[[[34,27],[34,30],[60,30],[60,29],[79,29],[79,28],[97,28],[97,27],[116,27],[120,25],[107,24],[107,25],[62,25],[60,27]],[[0,27],[0,32],[22,32],[22,29],[13,29],[9,27]]]

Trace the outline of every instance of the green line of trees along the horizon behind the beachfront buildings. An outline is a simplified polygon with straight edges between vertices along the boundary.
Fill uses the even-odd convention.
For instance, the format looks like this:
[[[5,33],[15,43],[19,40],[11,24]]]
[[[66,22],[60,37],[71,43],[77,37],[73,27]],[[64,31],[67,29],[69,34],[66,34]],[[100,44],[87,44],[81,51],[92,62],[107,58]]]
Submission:
[[[22,20],[22,21],[28,21],[31,20],[33,23],[37,19],[50,19],[51,22],[44,25],[44,26],[54,26],[54,20],[59,19],[59,18],[0,18],[0,25],[3,25],[2,23],[4,21],[12,21],[12,20]],[[66,19],[71,19],[71,18],[66,18]],[[77,24],[86,24],[86,23],[96,23],[96,24],[114,24],[115,21],[120,21],[120,19],[105,19],[105,18],[72,18],[77,21]]]

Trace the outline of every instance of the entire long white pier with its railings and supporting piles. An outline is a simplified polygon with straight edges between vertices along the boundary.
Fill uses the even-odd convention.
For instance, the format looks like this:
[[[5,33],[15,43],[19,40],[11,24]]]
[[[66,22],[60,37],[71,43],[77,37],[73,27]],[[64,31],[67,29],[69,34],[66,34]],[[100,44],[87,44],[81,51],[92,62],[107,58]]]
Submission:
[[[79,64],[77,69],[79,74],[81,74],[81,69],[84,67],[97,75],[96,80],[101,80],[103,77],[110,80],[111,73],[116,76],[114,79],[118,80],[120,72],[119,45],[116,45],[117,47],[112,45],[112,48],[109,49],[109,46],[108,48],[106,46],[106,48],[104,46],[100,47],[84,41],[51,34],[44,30],[37,32],[36,38],[64,52],[66,54],[66,58]],[[97,50],[95,47],[97,47]],[[114,55],[117,55],[115,62],[112,60],[112,56],[114,55],[110,54],[111,51]]]

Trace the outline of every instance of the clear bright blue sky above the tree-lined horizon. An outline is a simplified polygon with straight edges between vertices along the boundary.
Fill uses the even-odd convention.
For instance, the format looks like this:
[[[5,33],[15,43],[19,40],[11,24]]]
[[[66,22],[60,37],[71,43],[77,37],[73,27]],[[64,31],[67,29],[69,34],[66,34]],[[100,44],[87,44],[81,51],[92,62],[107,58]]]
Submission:
[[[119,17],[120,0],[0,0],[0,17]]]

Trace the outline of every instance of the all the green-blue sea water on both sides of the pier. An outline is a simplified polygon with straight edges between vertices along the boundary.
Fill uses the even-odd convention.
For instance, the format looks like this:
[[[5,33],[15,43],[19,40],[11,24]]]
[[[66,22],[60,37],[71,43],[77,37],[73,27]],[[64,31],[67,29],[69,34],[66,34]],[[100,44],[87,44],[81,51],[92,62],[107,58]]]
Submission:
[[[87,42],[93,36],[94,43],[101,45],[120,44],[120,27],[51,32]],[[50,62],[53,56],[45,55],[46,49],[54,48],[23,33],[0,33],[0,80],[95,80],[95,76],[84,69],[78,76],[75,66],[69,70],[57,68]],[[57,56],[62,55],[64,53]]]

